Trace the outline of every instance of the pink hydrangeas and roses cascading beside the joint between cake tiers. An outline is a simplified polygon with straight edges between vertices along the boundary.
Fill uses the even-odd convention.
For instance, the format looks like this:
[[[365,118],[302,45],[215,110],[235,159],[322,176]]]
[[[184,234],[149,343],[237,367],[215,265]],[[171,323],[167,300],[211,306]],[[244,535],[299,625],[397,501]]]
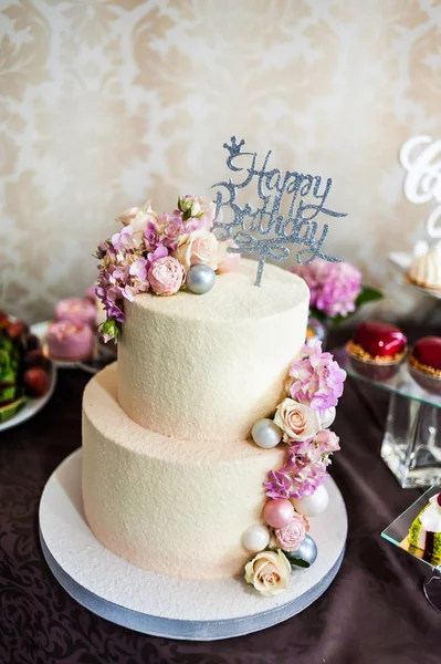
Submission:
[[[330,455],[339,449],[338,436],[326,426],[333,421],[345,378],[346,372],[329,353],[322,353],[319,342],[304,346],[301,360],[292,364],[287,384],[292,398],[280,404],[274,418],[288,444],[287,461],[283,468],[270,470],[263,485],[269,498],[311,496],[326,479]],[[283,404],[287,405],[283,408]],[[293,435],[293,414],[297,411],[302,414],[298,422],[304,430],[313,434],[309,437],[297,429]],[[313,428],[311,423],[314,423]]]

